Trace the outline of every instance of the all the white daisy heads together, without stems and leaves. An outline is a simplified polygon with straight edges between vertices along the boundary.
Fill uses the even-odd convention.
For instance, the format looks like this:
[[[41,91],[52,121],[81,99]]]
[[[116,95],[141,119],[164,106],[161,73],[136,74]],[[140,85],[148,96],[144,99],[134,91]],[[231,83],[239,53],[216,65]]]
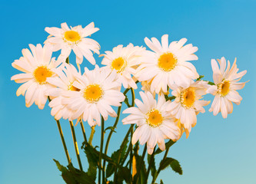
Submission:
[[[238,83],[246,71],[238,73],[236,61],[231,67],[224,58],[211,61],[214,84],[201,81],[198,72],[189,61],[198,60],[194,52],[197,47],[186,44],[187,39],[168,42],[168,35],[157,38],[145,38],[144,47],[128,44],[118,45],[112,51],[101,54],[103,67],[98,67],[93,52],[99,53],[97,41],[87,38],[98,31],[92,22],[85,28],[78,25],[68,28],[66,23],[62,28],[45,28],[50,35],[45,45],[29,44],[31,51],[23,49],[23,57],[15,60],[12,66],[22,71],[12,77],[22,84],[17,90],[17,96],[25,95],[26,107],[34,102],[39,109],[45,107],[47,98],[51,99],[49,107],[56,120],[87,121],[90,126],[101,125],[104,120],[117,117],[112,107],[121,106],[125,95],[121,86],[137,89],[136,82],[141,82],[139,94],[141,100],[135,99],[137,107],[129,107],[123,113],[130,113],[122,120],[124,124],[137,124],[132,137],[132,143],[138,140],[147,143],[151,154],[156,144],[165,149],[165,140],[178,140],[185,131],[187,137],[191,127],[197,123],[198,113],[204,113],[204,106],[210,101],[201,100],[205,94],[213,94],[214,101],[210,112],[214,115],[221,112],[226,118],[233,110],[233,104],[241,103],[241,96],[236,90],[244,87]],[[61,50],[57,61],[52,58],[53,51]],[[76,55],[78,70],[65,63],[71,54]],[[83,58],[95,69],[89,71],[85,67],[81,74],[80,64]],[[227,68],[226,68],[227,67]],[[210,85],[211,84],[211,85]],[[171,92],[171,93],[170,93]],[[172,94],[173,96],[168,96]],[[171,101],[172,100],[172,101]]]

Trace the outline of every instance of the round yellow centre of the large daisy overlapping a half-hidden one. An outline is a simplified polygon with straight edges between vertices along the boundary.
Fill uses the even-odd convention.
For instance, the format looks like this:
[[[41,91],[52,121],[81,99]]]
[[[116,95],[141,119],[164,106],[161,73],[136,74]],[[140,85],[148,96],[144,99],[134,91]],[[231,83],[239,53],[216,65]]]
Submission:
[[[91,84],[84,90],[84,97],[88,102],[93,103],[100,100],[103,95],[103,90],[98,84]]]

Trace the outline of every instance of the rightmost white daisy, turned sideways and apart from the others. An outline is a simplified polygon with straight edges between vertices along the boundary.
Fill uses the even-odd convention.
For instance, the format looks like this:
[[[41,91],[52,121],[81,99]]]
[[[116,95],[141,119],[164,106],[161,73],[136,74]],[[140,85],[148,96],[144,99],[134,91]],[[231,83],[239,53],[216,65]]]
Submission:
[[[220,67],[218,67],[217,61]],[[209,111],[213,112],[214,116],[221,112],[222,117],[227,118],[228,113],[232,113],[233,111],[232,102],[237,105],[241,103],[242,97],[236,90],[241,90],[244,87],[246,82],[239,83],[238,81],[241,80],[241,77],[243,77],[247,71],[238,73],[239,69],[236,64],[236,58],[234,59],[232,67],[229,61],[228,66],[226,66],[227,62],[224,57],[217,61],[214,59],[211,60],[215,85],[209,88],[209,92],[215,97]]]

